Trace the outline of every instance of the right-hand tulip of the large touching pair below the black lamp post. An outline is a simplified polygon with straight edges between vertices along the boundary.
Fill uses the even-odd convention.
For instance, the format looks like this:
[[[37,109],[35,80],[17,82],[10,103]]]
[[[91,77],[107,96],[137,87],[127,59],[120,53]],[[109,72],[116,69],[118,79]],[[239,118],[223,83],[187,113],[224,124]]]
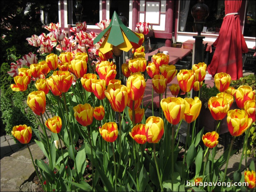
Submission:
[[[191,123],[195,121],[196,118],[199,116],[202,107],[202,102],[199,100],[198,97],[194,97],[194,99],[185,98],[184,101],[186,104],[186,109],[183,119],[187,123]]]

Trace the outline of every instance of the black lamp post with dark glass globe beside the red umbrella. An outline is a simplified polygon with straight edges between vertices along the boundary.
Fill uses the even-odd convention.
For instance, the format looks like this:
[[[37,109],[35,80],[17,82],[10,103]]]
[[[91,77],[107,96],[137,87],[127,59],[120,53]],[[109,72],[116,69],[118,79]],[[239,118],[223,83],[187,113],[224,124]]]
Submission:
[[[195,29],[197,31],[197,35],[193,36],[195,38],[195,50],[194,50],[194,63],[203,62],[204,59],[204,44],[203,39],[205,36],[201,35],[203,31],[205,19],[209,15],[209,8],[204,1],[197,1],[198,3],[195,4],[191,9],[191,14],[194,18]],[[193,63],[193,64],[194,64]]]

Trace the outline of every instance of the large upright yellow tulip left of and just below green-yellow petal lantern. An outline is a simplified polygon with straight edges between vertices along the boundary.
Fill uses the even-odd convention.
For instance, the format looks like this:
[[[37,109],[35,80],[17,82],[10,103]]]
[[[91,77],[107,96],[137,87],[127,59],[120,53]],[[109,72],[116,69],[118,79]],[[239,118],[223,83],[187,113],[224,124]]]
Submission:
[[[71,67],[77,78],[82,78],[87,72],[86,60],[75,58],[71,61]]]

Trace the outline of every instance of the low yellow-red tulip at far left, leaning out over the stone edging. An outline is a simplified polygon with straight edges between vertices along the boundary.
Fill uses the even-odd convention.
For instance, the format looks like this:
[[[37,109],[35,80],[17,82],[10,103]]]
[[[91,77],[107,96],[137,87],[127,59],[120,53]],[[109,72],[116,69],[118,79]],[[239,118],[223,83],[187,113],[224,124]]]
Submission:
[[[32,129],[27,125],[17,125],[12,128],[11,134],[22,144],[30,142],[32,137]]]

